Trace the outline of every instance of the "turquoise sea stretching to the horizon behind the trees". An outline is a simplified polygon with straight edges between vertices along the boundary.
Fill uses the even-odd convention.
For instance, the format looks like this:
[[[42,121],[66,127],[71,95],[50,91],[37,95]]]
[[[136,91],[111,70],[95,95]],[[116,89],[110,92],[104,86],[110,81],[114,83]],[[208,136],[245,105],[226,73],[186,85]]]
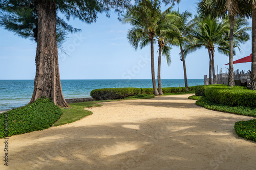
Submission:
[[[188,86],[203,85],[203,79],[188,79]],[[183,79],[163,79],[162,87],[184,87]],[[97,88],[137,87],[152,88],[152,80],[61,80],[65,99],[88,98]],[[12,109],[29,103],[34,80],[0,80],[0,110]]]

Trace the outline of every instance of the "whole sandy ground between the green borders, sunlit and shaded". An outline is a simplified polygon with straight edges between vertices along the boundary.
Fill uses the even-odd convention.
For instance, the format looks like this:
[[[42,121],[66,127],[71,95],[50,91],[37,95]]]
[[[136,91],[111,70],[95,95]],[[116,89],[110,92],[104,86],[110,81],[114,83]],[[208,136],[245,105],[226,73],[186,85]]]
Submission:
[[[233,128],[252,118],[188,96],[103,103],[75,123],[12,136],[8,169],[255,169],[256,142]]]

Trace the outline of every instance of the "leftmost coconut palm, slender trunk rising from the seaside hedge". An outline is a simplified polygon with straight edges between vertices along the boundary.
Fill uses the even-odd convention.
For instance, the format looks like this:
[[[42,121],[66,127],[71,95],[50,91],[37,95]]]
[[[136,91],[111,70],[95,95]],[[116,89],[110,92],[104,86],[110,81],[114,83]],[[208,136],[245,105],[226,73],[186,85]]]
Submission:
[[[151,75],[155,95],[159,95],[154,66],[154,38],[159,15],[160,1],[142,0],[138,5],[129,8],[122,18],[123,23],[130,23],[133,26],[127,33],[127,39],[129,39],[135,50],[139,46],[143,48],[151,44]]]

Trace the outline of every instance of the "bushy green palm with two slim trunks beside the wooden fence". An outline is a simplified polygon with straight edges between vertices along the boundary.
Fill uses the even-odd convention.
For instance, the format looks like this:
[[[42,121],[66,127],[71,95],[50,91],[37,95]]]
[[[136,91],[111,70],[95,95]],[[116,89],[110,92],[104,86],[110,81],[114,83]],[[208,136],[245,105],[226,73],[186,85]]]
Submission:
[[[226,41],[223,40],[223,36],[229,30],[228,21],[219,21],[217,18],[195,16],[194,19],[196,25],[193,29],[193,43],[185,45],[184,53],[194,52],[204,46],[208,50],[209,55],[209,84],[211,84],[211,71],[214,83],[216,83],[215,67],[214,67],[214,54],[215,48],[219,51],[226,52]],[[225,49],[225,51],[224,51]]]

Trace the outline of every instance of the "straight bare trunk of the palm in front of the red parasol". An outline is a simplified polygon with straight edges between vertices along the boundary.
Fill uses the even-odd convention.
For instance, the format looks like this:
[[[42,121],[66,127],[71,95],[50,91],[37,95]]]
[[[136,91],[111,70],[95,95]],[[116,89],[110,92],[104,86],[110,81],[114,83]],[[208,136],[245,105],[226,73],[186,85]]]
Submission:
[[[234,33],[234,15],[230,15],[230,35],[229,35],[229,69],[228,85],[234,86],[234,68],[233,68],[233,33]]]

